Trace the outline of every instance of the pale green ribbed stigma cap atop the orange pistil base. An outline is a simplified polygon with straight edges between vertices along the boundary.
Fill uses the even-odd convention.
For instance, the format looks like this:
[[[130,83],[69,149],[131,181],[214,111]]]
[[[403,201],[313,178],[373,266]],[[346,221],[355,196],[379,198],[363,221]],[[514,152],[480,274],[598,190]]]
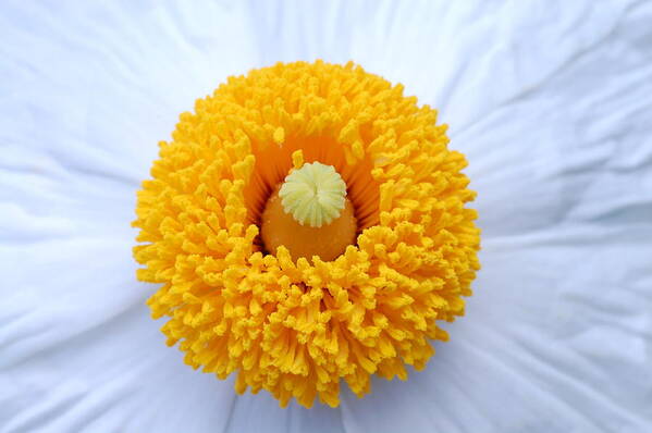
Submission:
[[[344,209],[346,184],[332,165],[304,164],[285,177],[279,190],[283,210],[302,225],[321,227]]]

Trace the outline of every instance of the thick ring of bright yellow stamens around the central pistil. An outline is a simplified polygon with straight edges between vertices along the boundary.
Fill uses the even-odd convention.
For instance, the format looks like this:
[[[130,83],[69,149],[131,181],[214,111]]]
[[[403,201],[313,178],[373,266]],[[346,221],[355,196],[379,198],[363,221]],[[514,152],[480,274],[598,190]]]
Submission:
[[[407,378],[464,313],[479,269],[464,157],[436,113],[360,66],[279,63],[197,100],[138,194],[138,277],[162,283],[168,344],[236,389],[337,406],[370,375]],[[298,152],[298,153],[297,153]],[[257,222],[293,157],[335,168],[360,234],[333,261],[265,251]],[[275,253],[274,253],[275,252]]]

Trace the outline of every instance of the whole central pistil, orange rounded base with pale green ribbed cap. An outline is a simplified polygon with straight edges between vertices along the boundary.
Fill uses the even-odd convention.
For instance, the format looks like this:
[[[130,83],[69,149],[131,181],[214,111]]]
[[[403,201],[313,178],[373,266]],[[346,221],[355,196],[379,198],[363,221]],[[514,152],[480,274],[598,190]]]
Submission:
[[[268,251],[285,246],[294,260],[334,260],[355,242],[357,221],[346,184],[320,162],[293,170],[262,211],[260,235]]]

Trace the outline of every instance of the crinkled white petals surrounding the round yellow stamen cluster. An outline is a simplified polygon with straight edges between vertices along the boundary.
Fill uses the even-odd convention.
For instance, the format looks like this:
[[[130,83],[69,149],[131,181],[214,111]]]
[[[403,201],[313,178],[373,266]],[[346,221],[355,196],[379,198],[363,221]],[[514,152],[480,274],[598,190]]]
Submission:
[[[652,2],[0,5],[0,432],[641,432],[652,424]],[[483,270],[451,342],[340,409],[194,372],[131,258],[180,112],[275,61],[440,108]]]

